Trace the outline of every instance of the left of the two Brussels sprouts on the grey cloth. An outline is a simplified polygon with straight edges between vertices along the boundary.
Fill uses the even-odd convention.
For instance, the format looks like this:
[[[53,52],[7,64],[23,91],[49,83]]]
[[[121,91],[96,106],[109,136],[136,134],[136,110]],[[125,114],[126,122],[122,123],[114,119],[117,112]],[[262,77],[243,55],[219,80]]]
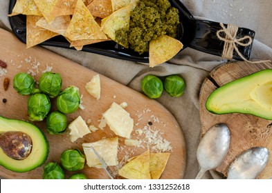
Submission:
[[[142,79],[141,88],[150,99],[157,99],[163,93],[163,82],[158,77],[149,74]]]

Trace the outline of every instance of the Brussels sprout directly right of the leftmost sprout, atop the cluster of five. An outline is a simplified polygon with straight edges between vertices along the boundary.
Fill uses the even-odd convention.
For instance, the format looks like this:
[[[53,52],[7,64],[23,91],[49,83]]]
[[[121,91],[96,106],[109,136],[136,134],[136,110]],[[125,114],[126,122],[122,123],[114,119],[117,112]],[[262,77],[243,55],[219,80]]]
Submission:
[[[59,73],[45,72],[39,78],[39,90],[47,94],[50,98],[55,98],[60,94],[62,88],[62,78]]]

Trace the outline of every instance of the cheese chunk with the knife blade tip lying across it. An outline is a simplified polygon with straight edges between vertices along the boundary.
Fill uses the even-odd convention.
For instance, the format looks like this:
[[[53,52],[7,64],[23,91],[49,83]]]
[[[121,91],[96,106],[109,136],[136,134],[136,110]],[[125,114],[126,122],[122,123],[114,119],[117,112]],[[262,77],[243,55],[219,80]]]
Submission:
[[[101,168],[102,164],[100,163],[98,157],[91,149],[91,146],[96,149],[98,154],[105,160],[107,165],[118,165],[118,137],[112,137],[107,139],[101,139],[93,143],[83,143],[82,147],[84,154],[86,156],[87,165],[89,167],[98,167]]]

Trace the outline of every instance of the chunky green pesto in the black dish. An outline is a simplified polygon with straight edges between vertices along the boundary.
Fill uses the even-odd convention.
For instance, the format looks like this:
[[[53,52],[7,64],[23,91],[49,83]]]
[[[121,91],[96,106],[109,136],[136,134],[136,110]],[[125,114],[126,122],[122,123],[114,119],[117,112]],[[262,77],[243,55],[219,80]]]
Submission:
[[[129,44],[139,54],[148,52],[149,41],[162,34],[176,38],[179,10],[172,8],[168,0],[140,0],[130,15],[129,31],[116,31],[116,38]]]

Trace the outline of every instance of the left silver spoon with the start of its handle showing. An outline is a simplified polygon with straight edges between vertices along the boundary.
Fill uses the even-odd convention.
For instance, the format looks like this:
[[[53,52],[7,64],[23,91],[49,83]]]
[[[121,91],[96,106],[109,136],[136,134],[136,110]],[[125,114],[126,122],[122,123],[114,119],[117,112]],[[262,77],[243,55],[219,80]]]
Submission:
[[[230,130],[225,123],[218,123],[204,134],[197,148],[197,161],[201,169],[195,179],[218,167],[226,157],[230,147]]]

